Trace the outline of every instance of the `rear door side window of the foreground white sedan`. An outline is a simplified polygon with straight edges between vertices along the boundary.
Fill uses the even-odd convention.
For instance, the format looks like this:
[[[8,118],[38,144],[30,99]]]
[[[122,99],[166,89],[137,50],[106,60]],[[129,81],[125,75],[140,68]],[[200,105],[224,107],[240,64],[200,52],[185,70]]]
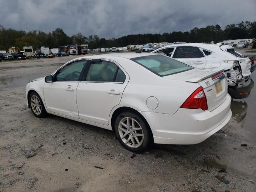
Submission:
[[[92,82],[124,82],[124,80],[124,72],[109,61],[91,63],[86,75],[86,81]]]

